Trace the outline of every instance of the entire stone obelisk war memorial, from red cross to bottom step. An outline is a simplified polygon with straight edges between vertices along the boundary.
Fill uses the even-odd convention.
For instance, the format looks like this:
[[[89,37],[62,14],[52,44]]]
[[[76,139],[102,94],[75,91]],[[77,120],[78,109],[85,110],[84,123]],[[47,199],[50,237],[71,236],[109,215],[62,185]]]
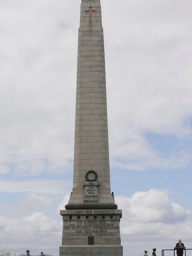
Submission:
[[[73,189],[61,210],[60,256],[122,256],[110,188],[104,39],[100,0],[82,0],[78,41]]]

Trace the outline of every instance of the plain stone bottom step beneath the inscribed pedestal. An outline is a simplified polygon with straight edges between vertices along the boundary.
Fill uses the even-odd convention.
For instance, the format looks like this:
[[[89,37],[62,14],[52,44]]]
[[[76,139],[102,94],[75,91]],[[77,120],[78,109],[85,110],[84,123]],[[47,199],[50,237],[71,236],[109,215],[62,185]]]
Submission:
[[[61,246],[60,256],[123,256],[123,247],[119,244],[108,246]]]

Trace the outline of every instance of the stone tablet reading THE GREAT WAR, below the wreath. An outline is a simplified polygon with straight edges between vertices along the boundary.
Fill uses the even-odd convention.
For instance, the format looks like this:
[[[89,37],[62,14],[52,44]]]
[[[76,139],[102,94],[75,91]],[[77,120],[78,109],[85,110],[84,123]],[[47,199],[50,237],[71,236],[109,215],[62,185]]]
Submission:
[[[98,185],[84,185],[84,204],[98,204]]]

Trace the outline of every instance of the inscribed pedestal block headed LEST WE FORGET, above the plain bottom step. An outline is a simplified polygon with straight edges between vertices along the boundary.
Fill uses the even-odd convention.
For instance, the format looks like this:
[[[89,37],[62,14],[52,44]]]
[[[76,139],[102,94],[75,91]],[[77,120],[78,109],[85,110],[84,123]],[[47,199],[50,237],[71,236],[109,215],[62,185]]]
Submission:
[[[62,210],[62,245],[89,245],[89,237],[94,237],[94,245],[121,244],[121,210]]]

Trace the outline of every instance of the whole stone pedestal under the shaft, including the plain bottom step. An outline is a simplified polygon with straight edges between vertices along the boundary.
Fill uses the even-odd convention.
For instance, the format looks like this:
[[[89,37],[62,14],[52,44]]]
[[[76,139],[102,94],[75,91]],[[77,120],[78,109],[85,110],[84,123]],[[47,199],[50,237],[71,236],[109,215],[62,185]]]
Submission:
[[[122,256],[121,210],[61,210],[60,256]]]

